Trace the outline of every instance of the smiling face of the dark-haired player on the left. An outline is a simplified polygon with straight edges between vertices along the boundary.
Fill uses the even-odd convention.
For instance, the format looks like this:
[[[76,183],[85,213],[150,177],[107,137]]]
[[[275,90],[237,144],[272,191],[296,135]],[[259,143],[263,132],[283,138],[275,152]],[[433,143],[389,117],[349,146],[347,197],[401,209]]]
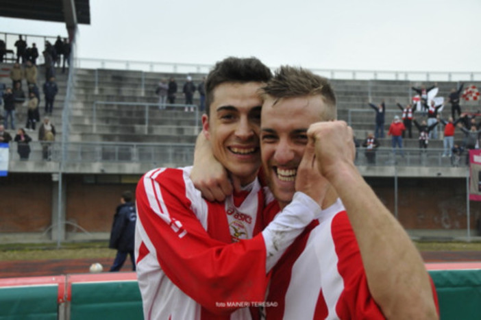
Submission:
[[[260,82],[225,82],[214,88],[210,116],[202,127],[214,156],[245,185],[254,181],[260,167]]]

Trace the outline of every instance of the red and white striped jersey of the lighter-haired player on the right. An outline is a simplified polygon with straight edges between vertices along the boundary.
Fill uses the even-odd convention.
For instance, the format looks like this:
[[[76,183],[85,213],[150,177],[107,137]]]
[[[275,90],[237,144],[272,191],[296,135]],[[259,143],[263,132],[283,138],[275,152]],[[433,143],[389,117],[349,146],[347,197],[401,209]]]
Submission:
[[[267,301],[274,305],[266,308],[267,319],[384,319],[340,199],[275,265]]]

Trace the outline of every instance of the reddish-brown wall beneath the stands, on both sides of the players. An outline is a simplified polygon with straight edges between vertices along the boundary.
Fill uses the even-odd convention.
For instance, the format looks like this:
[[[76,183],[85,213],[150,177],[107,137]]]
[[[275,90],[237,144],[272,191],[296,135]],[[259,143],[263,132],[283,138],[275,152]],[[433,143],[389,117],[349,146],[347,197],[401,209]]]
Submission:
[[[66,240],[108,238],[112,217],[124,190],[135,191],[140,175],[65,175]],[[367,177],[386,207],[395,210],[393,177]],[[55,191],[54,191],[55,190]],[[50,174],[11,173],[0,179],[0,238],[43,234],[49,241],[57,216],[56,182]],[[467,227],[466,180],[462,178],[398,179],[397,217],[421,236],[462,235]],[[481,203],[470,202],[471,229],[481,217]],[[83,230],[91,234],[86,234]],[[53,229],[55,232],[55,228]],[[473,235],[476,232],[473,231]],[[418,234],[419,235],[419,234]],[[3,241],[16,242],[18,238]]]

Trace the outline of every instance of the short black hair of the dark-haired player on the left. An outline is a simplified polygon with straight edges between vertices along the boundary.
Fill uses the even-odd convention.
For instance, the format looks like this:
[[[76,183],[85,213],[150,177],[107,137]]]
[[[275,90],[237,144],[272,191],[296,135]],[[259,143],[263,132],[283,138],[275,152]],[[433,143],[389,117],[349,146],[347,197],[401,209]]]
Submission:
[[[210,103],[214,100],[214,89],[219,84],[268,82],[271,77],[271,69],[258,58],[229,57],[217,62],[206,79],[206,113],[209,114]]]

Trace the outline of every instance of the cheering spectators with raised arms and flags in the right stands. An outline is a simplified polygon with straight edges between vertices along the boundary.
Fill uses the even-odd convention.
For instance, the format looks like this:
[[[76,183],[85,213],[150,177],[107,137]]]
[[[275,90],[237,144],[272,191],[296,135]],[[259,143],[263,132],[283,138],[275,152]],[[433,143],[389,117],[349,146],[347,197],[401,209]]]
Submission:
[[[412,91],[415,93],[415,97],[412,97],[412,101],[403,106],[401,103],[395,101],[397,108],[402,112],[402,122],[399,116],[393,117],[389,125],[388,136],[391,136],[391,143],[389,145],[393,148],[393,153],[399,153],[404,156],[403,138],[413,138],[412,136],[412,123],[415,124],[419,131],[419,148],[427,149],[430,140],[443,140],[443,154],[442,157],[449,157],[452,160],[453,166],[458,166],[459,158],[463,153],[467,153],[469,149],[479,149],[481,147],[481,122],[476,121],[476,115],[471,112],[462,112],[460,106],[460,95],[464,84],[460,84],[458,88],[452,88],[447,97],[436,97],[438,93],[437,84],[432,86],[421,85],[419,87],[412,87]],[[450,114],[447,119],[441,117],[441,110],[445,106],[445,103],[451,105]],[[383,141],[379,140],[384,138],[384,124],[386,115],[386,101],[384,99],[378,105],[368,101],[368,105],[375,111],[374,119],[374,134],[367,133],[367,138],[362,144],[365,148],[365,155],[367,158],[367,164],[373,164],[375,159],[373,157],[373,151]],[[478,112],[479,113],[479,112]],[[457,119],[456,119],[457,116]],[[416,119],[418,118],[418,119]],[[436,126],[439,124],[444,125],[444,130]],[[456,128],[459,128],[461,132],[465,134],[462,140],[455,142]],[[354,129],[356,129],[354,127]],[[439,136],[439,132],[443,135]],[[375,143],[373,141],[375,140]],[[387,146],[387,145],[386,145]],[[396,151],[399,149],[399,152]],[[467,161],[469,160],[469,153],[467,153]]]

